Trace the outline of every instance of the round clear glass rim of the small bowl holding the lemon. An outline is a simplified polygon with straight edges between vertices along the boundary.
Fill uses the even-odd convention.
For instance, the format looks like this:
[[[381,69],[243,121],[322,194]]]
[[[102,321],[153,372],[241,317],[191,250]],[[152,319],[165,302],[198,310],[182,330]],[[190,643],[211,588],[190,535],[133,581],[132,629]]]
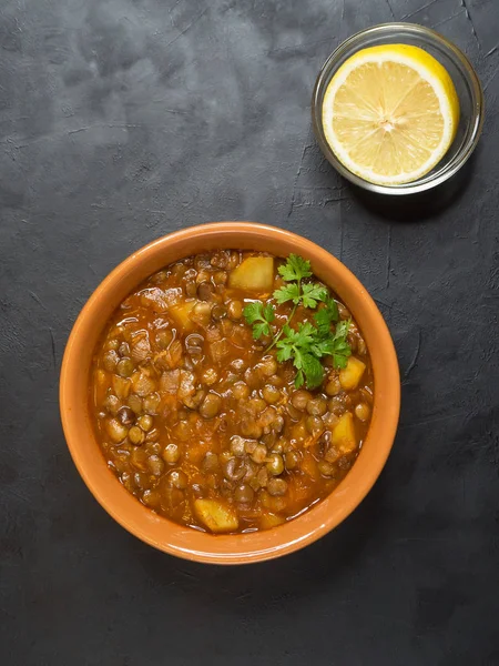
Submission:
[[[398,185],[379,185],[366,181],[363,178],[356,175],[344,164],[342,164],[342,162],[336,158],[335,153],[330,149],[324,135],[322,123],[320,98],[324,94],[326,85],[328,83],[327,79],[330,71],[334,70],[342,57],[346,52],[348,52],[348,50],[352,47],[359,46],[359,48],[361,48],[361,41],[366,37],[377,34],[389,34],[391,32],[395,33],[397,31],[406,32],[407,34],[411,34],[416,38],[421,36],[429,38],[431,41],[437,42],[438,46],[442,47],[448,52],[450,59],[459,61],[459,64],[466,72],[466,77],[468,78],[467,82],[470,85],[472,90],[472,95],[475,98],[472,104],[472,113],[469,120],[471,131],[469,132],[470,135],[464,142],[459,151],[454,155],[449,163],[446,164],[444,169],[437,171],[437,173],[430,172],[429,174],[421,176],[417,181],[409,183],[401,183]],[[478,140],[481,134],[483,125],[483,90],[478,74],[468,57],[456,44],[450,42],[448,39],[446,39],[432,28],[427,28],[426,26],[420,26],[418,23],[379,23],[377,26],[371,26],[369,28],[365,28],[364,30],[359,30],[355,34],[348,37],[332,52],[332,54],[324,62],[317,75],[314,85],[314,91],[312,93],[312,125],[314,134],[324,155],[326,157],[328,162],[348,181],[361,188],[363,190],[368,190],[378,194],[415,194],[418,192],[425,192],[427,190],[430,190],[431,188],[435,188],[441,184],[442,182],[447,181],[449,178],[455,175],[460,170],[460,168],[468,161],[475,148],[477,147]]]

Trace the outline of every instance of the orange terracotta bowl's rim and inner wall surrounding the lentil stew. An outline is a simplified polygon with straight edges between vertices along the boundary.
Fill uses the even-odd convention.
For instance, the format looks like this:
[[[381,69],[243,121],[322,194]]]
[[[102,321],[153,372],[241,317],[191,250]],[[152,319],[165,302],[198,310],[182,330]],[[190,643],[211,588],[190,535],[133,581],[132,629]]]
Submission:
[[[263,250],[312,261],[314,273],[345,302],[367,343],[375,398],[369,432],[355,465],[333,493],[274,529],[213,536],[182,527],[143,506],[108,468],[92,427],[89,375],[99,336],[120,302],[145,278],[206,250]],[[83,481],[105,511],[145,543],[186,559],[244,564],[303,548],[344,521],[373,487],[390,452],[398,422],[400,380],[390,334],[373,299],[343,263],[306,239],[251,222],[220,222],[172,233],[133,253],[98,286],[78,317],[64,353],[60,407],[65,438]]]

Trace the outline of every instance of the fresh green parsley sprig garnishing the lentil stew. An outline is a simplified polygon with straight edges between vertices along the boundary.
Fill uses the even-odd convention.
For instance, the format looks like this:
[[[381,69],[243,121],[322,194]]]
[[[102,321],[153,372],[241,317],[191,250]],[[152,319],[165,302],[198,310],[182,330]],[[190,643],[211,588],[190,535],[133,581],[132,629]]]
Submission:
[[[314,282],[303,282],[312,276],[310,262],[296,254],[291,254],[286,263],[278,269],[286,282],[273,294],[277,304],[292,302],[293,307],[281,330],[273,330],[275,309],[271,303],[254,301],[244,309],[246,322],[253,326],[253,337],[263,335],[271,337],[272,347],[277,347],[277,361],[292,361],[296,369],[295,386],[306,384],[308,389],[319,386],[325,376],[322,364],[324,356],[330,356],[335,367],[345,367],[352,353],[347,342],[349,321],[339,322],[336,301],[327,289]],[[320,307],[317,309],[317,306]],[[299,323],[296,329],[291,322],[297,307],[316,310],[312,322]],[[334,329],[333,329],[334,327]]]

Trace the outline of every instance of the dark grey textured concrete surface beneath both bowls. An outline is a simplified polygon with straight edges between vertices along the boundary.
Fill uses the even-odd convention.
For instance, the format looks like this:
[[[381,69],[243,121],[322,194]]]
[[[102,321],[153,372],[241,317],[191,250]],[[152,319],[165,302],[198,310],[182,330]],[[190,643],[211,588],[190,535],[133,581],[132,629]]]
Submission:
[[[310,134],[317,71],[406,19],[477,67],[479,149],[416,204],[360,196]],[[499,664],[497,0],[1,0],[0,664]],[[86,297],[210,220],[308,235],[376,297],[400,427],[363,505],[243,568],[153,551],[92,498],[58,412]]]

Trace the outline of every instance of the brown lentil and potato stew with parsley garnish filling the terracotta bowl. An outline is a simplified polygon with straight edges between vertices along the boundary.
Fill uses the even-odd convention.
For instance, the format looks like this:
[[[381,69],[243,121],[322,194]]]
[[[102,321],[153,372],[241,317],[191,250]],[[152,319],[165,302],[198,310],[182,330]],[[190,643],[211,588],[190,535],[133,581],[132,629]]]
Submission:
[[[196,529],[251,532],[308,509],[348,473],[373,372],[350,313],[308,262],[214,251],[166,266],[116,309],[91,408],[138,501]]]

